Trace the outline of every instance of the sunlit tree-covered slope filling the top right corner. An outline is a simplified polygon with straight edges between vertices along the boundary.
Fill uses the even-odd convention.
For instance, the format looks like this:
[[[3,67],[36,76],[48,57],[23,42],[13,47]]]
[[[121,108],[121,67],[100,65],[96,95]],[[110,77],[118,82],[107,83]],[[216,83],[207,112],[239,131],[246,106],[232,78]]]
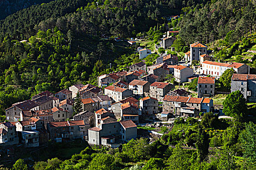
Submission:
[[[187,44],[200,41],[210,43],[224,39],[233,44],[245,34],[256,30],[256,2],[254,0],[212,0],[205,5],[183,8],[186,16],[178,26],[180,37]],[[232,32],[231,32],[232,31]]]

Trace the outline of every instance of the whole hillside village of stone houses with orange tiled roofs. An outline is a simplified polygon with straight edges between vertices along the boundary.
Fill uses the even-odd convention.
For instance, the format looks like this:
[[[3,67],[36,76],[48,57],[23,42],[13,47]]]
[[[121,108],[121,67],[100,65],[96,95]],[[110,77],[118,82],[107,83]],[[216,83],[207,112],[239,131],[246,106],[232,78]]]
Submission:
[[[171,47],[174,34],[178,32],[168,31],[160,47]],[[128,43],[135,45],[136,41]],[[146,66],[143,59],[151,52],[139,47],[140,62],[127,71],[98,76],[98,86],[72,85],[57,93],[44,91],[31,100],[13,103],[5,110],[8,122],[0,123],[0,145],[22,144],[29,148],[48,140],[82,139],[90,145],[116,148],[137,138],[138,125],[172,124],[180,117],[200,119],[207,112],[223,115],[212,98],[221,93],[215,88],[216,80],[228,69],[236,72],[231,92],[240,90],[247,102],[256,102],[256,75],[248,74],[249,67],[214,61],[207,46],[200,42],[190,45],[182,61],[177,55],[163,53],[153,65]],[[195,61],[200,64],[192,67]],[[185,88],[193,81],[197,81],[196,91]]]

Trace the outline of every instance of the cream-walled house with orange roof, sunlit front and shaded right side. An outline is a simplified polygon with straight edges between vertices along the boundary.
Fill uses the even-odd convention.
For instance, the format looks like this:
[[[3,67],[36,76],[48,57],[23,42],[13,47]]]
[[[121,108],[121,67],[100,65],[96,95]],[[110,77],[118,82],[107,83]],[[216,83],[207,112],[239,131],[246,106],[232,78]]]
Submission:
[[[133,91],[127,88],[114,87],[110,85],[104,88],[104,94],[112,98],[113,101],[119,102],[125,98],[133,96]]]

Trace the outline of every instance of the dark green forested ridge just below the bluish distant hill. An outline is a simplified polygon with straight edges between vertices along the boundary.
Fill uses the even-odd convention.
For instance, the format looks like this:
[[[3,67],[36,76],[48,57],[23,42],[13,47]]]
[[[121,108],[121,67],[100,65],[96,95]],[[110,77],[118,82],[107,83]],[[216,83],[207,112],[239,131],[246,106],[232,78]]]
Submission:
[[[20,10],[0,20],[0,38],[10,36],[12,39],[28,39],[38,32],[34,27],[40,21],[74,12],[88,2],[90,0],[55,0]]]

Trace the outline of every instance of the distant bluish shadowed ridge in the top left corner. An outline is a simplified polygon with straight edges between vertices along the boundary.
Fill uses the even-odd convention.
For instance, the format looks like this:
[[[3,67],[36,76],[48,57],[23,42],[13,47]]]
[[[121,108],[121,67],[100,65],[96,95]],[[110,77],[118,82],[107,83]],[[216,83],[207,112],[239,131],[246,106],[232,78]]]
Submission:
[[[0,0],[0,19],[4,19],[8,15],[14,14],[23,8],[28,8],[31,5],[48,3],[50,1],[51,0]]]

